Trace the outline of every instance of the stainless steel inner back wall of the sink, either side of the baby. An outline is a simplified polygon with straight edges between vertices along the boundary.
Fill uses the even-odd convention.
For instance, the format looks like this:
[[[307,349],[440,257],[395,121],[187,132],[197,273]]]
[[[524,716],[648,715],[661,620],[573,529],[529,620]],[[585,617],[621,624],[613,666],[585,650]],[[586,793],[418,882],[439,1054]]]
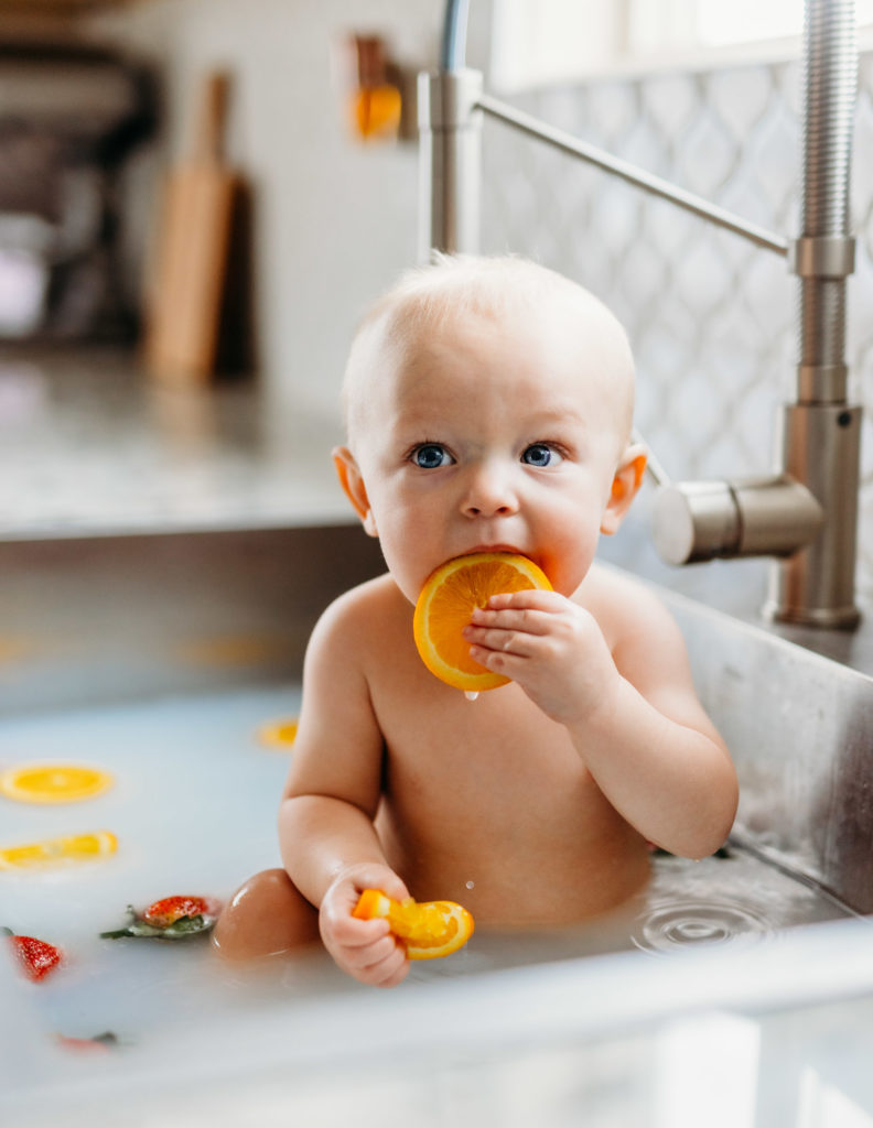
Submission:
[[[0,715],[276,684],[384,567],[356,526],[0,540]],[[658,588],[741,778],[737,828],[873,910],[873,679]]]

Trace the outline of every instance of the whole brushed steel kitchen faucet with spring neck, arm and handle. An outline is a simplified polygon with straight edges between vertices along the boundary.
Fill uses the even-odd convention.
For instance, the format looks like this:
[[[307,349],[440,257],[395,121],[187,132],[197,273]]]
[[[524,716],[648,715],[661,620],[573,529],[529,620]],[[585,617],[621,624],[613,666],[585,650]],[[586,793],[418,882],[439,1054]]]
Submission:
[[[783,407],[769,475],[658,486],[653,539],[671,564],[774,556],[765,614],[854,627],[862,409],[847,400],[846,280],[854,270],[849,170],[857,83],[854,0],[805,0],[801,233],[786,239],[540,122],[483,89],[464,65],[468,0],[448,0],[439,68],[419,76],[422,257],[479,249],[484,116],[783,256],[796,276],[796,398]]]

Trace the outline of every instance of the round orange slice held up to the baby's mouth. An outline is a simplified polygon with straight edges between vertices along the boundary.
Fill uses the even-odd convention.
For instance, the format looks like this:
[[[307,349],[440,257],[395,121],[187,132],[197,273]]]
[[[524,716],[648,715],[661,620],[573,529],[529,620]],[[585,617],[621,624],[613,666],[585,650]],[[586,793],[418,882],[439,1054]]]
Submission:
[[[421,589],[412,623],[416,646],[428,670],[468,693],[505,686],[509,678],[470,658],[470,643],[461,632],[473,608],[484,607],[491,596],[530,588],[551,591],[545,573],[514,553],[473,553],[440,564]]]

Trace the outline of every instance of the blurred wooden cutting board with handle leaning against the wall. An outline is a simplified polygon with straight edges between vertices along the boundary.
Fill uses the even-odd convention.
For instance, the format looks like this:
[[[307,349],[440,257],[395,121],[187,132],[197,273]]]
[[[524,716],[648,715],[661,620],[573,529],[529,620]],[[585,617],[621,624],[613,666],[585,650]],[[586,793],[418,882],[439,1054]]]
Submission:
[[[161,380],[204,384],[215,371],[238,184],[225,159],[229,76],[207,76],[193,153],[166,179],[147,299],[145,356]]]

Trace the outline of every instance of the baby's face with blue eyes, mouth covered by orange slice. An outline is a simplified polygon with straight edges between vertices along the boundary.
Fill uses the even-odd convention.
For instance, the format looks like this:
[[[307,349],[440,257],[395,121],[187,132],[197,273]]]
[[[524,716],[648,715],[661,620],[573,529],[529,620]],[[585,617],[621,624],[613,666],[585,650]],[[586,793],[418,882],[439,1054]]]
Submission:
[[[627,439],[629,374],[617,391],[603,371],[614,354],[580,355],[564,326],[457,319],[368,381],[352,450],[411,601],[465,553],[521,553],[567,596],[588,571]]]

